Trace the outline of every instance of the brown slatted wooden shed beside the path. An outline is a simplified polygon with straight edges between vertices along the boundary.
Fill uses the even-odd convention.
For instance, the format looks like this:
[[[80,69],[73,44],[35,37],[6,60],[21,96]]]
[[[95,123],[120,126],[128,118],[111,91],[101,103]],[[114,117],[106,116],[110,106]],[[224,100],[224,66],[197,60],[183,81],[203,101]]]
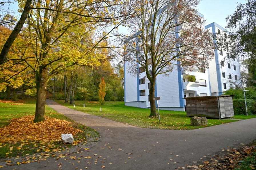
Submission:
[[[234,116],[234,95],[187,97],[187,116],[229,118]]]

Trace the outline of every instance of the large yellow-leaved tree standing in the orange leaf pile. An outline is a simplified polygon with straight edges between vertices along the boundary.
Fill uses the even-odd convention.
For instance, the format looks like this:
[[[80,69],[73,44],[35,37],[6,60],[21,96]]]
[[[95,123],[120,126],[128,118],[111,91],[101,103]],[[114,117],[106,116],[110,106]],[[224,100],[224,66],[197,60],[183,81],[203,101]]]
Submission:
[[[19,2],[21,11],[24,2]],[[45,120],[48,81],[72,65],[99,66],[105,58],[99,51],[109,34],[131,16],[124,1],[34,1],[29,7],[24,41],[34,55],[21,57],[35,72],[37,103],[34,122]],[[117,12],[118,11],[118,12]],[[113,25],[111,29],[106,29]],[[101,31],[102,34],[98,34]],[[3,50],[2,50],[3,51]],[[7,59],[9,61],[12,59]],[[29,60],[33,60],[30,62]]]

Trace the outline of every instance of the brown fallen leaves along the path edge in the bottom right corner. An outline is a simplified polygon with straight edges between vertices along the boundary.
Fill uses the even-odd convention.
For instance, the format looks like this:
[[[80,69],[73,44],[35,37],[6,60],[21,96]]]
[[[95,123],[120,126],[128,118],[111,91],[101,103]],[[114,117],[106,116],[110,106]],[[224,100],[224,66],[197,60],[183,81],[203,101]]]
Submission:
[[[215,169],[235,169],[243,163],[246,157],[251,156],[256,153],[256,141],[251,145],[244,145],[239,149],[231,148],[222,149],[223,153],[219,155],[214,155],[208,160],[201,162],[201,165],[185,165],[187,168],[178,167],[178,169],[205,169],[205,170],[215,170]],[[201,158],[202,159],[202,158]],[[194,162],[196,163],[196,162]],[[256,169],[256,165],[248,165],[248,169]]]

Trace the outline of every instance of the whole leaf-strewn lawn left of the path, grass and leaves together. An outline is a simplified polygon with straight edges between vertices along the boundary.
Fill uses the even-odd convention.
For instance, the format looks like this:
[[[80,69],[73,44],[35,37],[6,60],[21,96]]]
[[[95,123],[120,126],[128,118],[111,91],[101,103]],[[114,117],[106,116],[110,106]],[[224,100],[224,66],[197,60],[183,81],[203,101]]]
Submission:
[[[46,121],[34,124],[35,100],[0,101],[0,160],[41,152],[49,155],[69,149],[72,145],[61,141],[61,133],[72,133],[74,145],[85,143],[87,139],[98,140],[99,133],[94,129],[77,124],[48,106],[45,112]]]

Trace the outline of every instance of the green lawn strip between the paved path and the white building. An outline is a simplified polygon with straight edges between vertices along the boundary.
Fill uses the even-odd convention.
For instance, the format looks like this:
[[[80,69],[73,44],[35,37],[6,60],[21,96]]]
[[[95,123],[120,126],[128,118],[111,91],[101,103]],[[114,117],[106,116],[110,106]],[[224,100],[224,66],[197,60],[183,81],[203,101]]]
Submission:
[[[117,122],[139,126],[143,128],[158,128],[158,129],[197,129],[204,126],[191,126],[190,118],[187,117],[186,112],[160,110],[161,124],[158,118],[148,117],[150,114],[149,109],[136,108],[125,106],[124,102],[105,102],[105,105],[99,103],[88,103],[85,101],[75,101],[75,108],[71,104],[64,103],[64,100],[55,100],[56,102],[67,106],[69,108],[85,112],[91,115],[100,116],[103,118],[111,119]],[[85,103],[85,108],[83,104]],[[102,112],[100,112],[100,107]],[[242,117],[242,116],[241,116]],[[240,117],[239,117],[240,118]],[[218,120],[208,119],[208,126],[235,122],[237,120]]]

